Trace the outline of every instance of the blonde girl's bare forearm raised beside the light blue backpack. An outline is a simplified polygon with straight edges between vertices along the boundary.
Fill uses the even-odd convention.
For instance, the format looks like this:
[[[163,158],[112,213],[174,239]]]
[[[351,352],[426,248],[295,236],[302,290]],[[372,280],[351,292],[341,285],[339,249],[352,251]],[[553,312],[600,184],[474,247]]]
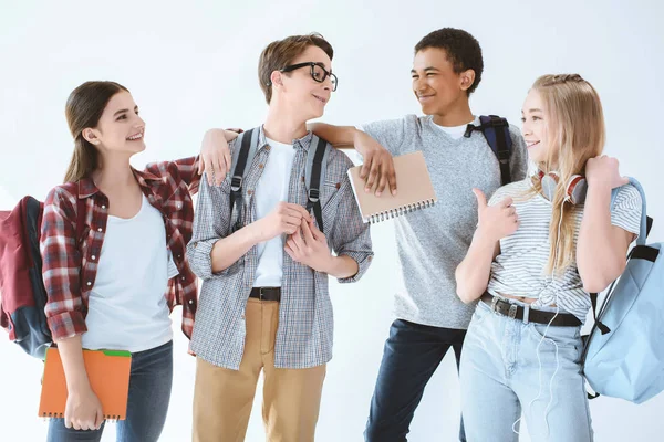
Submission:
[[[624,244],[614,229],[611,189],[589,186],[577,244],[577,269],[588,292],[603,291],[624,270]]]

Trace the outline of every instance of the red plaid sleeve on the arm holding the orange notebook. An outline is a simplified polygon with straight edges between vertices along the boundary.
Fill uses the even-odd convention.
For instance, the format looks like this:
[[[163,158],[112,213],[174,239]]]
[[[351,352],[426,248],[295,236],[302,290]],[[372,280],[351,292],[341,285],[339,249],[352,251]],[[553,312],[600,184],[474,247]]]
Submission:
[[[87,332],[81,297],[81,252],[76,244],[76,198],[62,188],[44,201],[40,250],[46,288],[44,312],[54,340]]]

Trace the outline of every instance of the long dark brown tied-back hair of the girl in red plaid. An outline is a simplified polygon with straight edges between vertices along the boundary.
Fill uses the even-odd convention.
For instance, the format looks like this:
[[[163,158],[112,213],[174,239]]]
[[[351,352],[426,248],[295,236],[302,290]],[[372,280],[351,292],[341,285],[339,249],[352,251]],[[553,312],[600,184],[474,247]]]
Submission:
[[[64,175],[64,182],[89,177],[98,167],[100,152],[83,138],[83,130],[97,126],[111,97],[122,91],[129,92],[115,82],[85,82],[70,94],[64,115],[74,137],[74,154]]]

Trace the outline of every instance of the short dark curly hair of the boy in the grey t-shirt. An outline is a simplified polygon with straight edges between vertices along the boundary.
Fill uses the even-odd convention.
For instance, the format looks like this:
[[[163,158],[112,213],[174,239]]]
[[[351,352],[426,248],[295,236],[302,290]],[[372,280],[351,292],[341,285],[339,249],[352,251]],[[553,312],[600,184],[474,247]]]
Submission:
[[[473,35],[461,29],[443,28],[419,40],[415,45],[415,53],[428,48],[445,50],[455,73],[460,74],[469,69],[475,71],[475,82],[466,92],[470,95],[477,88],[481,81],[484,61],[479,42]]]

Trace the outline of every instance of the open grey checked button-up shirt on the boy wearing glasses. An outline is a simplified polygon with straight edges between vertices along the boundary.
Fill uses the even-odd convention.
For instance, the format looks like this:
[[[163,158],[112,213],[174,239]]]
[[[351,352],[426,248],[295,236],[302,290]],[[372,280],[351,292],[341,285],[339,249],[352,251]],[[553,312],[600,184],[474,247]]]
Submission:
[[[293,141],[295,157],[290,177],[288,202],[307,206],[304,169],[312,134]],[[230,150],[239,148],[231,143]],[[311,146],[311,148],[314,148]],[[338,255],[355,260],[360,271],[350,278],[360,280],[373,257],[369,224],[362,222],[360,210],[346,171],[353,166],[340,150],[328,155],[325,181],[321,182],[324,234]],[[270,156],[262,127],[259,147],[242,185],[242,224],[256,218],[256,189]],[[203,278],[196,313],[191,350],[204,360],[219,367],[238,370],[245,351],[245,308],[256,278],[257,248],[252,248],[230,267],[212,273],[210,252],[214,244],[230,231],[230,173],[220,187],[200,180],[194,235],[187,246],[187,259],[195,274]],[[234,220],[235,223],[235,220]],[[279,306],[279,329],[274,345],[277,368],[309,368],[326,364],[332,358],[333,315],[328,291],[328,275],[293,262],[283,253],[283,280]]]

